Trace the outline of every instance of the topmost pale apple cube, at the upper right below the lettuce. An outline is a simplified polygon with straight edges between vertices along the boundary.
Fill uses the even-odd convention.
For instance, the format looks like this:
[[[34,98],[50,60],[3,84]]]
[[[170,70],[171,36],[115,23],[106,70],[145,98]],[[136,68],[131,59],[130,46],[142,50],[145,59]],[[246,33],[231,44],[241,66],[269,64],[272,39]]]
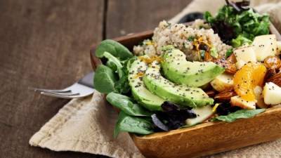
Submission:
[[[270,55],[277,53],[277,42],[275,34],[266,34],[254,38],[253,43],[256,59],[263,61]]]

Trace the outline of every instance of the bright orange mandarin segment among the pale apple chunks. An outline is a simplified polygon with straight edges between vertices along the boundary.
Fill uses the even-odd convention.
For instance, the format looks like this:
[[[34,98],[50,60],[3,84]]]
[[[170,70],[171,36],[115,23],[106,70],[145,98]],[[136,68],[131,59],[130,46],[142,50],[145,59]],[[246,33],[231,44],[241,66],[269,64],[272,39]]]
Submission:
[[[254,88],[262,86],[266,67],[262,64],[248,63],[238,70],[233,78],[234,90],[242,99],[255,100]]]

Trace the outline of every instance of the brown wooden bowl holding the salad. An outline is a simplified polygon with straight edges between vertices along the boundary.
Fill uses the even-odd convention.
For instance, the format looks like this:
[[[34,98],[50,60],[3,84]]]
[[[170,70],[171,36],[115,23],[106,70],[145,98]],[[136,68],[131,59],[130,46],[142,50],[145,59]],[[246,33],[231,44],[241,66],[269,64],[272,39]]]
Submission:
[[[271,34],[277,40],[281,36],[273,25]],[[152,37],[152,30],[130,34],[114,39],[130,50],[144,39]],[[100,65],[95,55],[96,46],[91,48],[93,70]],[[185,129],[152,133],[148,136],[130,135],[145,157],[181,158],[201,157],[208,154],[234,150],[248,145],[281,138],[281,105],[270,107],[256,117],[227,122],[208,122]]]

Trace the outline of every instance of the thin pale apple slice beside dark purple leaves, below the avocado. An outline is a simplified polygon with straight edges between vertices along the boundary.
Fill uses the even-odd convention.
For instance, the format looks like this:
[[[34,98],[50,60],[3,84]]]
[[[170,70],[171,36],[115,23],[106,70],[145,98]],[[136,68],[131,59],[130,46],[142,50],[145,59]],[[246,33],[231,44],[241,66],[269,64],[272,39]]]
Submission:
[[[197,114],[197,117],[193,119],[186,119],[185,124],[188,126],[199,124],[202,121],[209,119],[214,114],[213,107],[211,107],[211,105],[195,108],[192,110],[195,112],[195,114]]]

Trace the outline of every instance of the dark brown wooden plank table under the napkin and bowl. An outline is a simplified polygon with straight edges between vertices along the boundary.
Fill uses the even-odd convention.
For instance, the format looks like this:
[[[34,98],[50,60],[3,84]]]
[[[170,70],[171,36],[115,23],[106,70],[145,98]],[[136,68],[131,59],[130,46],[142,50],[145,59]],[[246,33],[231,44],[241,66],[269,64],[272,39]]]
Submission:
[[[63,88],[91,71],[89,48],[157,26],[190,0],[0,1],[1,157],[102,157],[30,147],[28,140],[69,100],[29,87]]]

